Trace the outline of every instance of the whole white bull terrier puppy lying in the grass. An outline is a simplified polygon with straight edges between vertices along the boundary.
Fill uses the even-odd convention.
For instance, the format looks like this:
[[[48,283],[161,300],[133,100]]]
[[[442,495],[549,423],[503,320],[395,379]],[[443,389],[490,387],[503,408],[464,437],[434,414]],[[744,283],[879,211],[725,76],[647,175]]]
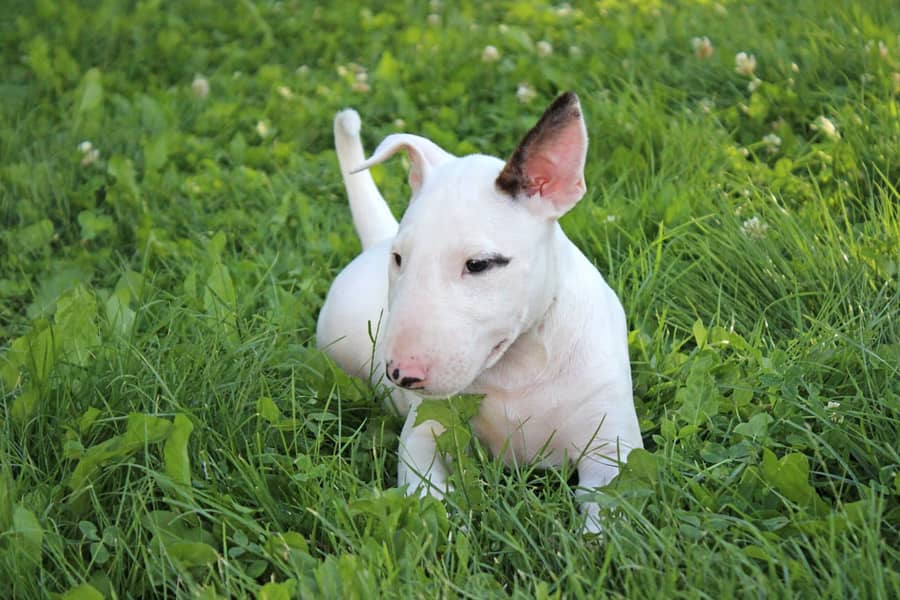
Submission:
[[[352,375],[386,375],[407,415],[399,485],[447,491],[442,428],[416,425],[416,409],[459,393],[484,394],[472,428],[503,460],[577,461],[582,494],[609,483],[642,442],[622,305],[557,223],[585,192],[577,96],[557,98],[505,163],[409,134],[364,161],[359,129],[355,111],[335,118],[363,252],[332,284],[317,342]],[[366,169],[399,150],[412,198],[398,226]],[[597,505],[582,511],[599,530]]]

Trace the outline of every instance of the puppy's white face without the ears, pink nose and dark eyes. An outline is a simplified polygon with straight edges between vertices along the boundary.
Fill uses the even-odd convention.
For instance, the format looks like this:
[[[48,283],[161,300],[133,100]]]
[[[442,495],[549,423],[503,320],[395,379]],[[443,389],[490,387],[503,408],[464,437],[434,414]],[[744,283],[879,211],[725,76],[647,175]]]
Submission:
[[[470,156],[435,171],[391,247],[387,357],[424,369],[423,394],[465,389],[546,304],[553,223],[495,188],[502,168]]]

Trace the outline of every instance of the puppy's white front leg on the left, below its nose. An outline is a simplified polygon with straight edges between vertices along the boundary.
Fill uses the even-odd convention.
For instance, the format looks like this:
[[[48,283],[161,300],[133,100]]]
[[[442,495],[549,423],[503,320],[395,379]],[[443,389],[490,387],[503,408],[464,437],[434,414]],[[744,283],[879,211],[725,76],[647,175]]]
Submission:
[[[416,425],[416,409],[409,411],[400,433],[400,464],[397,486],[406,486],[407,494],[442,499],[448,491],[447,465],[438,452],[436,438],[444,432],[437,421]]]

